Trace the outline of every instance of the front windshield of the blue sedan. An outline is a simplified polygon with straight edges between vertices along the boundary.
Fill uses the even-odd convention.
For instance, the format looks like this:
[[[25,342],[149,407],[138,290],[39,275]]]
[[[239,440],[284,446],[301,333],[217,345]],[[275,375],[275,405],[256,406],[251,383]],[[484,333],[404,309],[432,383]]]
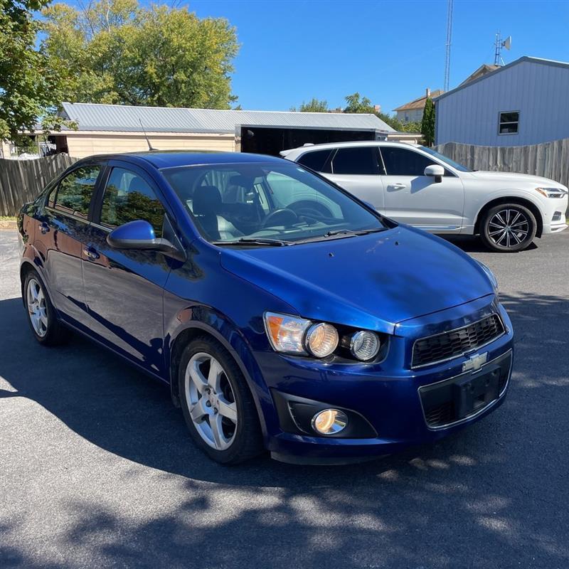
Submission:
[[[298,164],[211,164],[162,174],[211,243],[291,245],[383,230],[381,216]]]

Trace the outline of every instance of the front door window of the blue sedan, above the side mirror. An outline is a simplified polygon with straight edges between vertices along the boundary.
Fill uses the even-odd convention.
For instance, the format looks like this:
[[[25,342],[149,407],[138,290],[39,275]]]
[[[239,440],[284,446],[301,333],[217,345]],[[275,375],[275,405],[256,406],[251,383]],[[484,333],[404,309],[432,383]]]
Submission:
[[[152,225],[156,237],[161,237],[164,213],[164,207],[144,179],[130,170],[112,169],[102,200],[101,225],[115,228],[144,219]]]

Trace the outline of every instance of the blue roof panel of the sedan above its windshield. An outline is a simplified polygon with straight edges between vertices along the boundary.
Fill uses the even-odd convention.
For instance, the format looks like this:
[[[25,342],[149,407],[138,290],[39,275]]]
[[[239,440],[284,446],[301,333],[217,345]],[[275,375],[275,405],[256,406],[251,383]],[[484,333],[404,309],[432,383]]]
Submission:
[[[248,154],[241,152],[218,152],[207,150],[196,151],[160,151],[151,150],[145,152],[126,152],[124,154],[99,154],[88,156],[85,161],[127,160],[133,162],[144,160],[157,169],[171,168],[173,166],[193,166],[196,164],[259,164],[267,162],[281,162],[282,158],[268,156],[267,154]]]

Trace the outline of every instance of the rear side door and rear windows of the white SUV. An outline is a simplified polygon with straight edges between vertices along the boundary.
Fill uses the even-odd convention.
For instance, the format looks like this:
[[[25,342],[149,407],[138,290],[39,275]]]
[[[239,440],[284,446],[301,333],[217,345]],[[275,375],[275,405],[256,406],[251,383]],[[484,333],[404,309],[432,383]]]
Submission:
[[[328,153],[328,156],[325,156],[325,153]],[[323,157],[325,159],[321,163]],[[316,169],[341,188],[353,193],[357,198],[371,203],[377,211],[383,213],[383,185],[381,181],[383,166],[376,146],[312,151],[300,156],[298,162]]]

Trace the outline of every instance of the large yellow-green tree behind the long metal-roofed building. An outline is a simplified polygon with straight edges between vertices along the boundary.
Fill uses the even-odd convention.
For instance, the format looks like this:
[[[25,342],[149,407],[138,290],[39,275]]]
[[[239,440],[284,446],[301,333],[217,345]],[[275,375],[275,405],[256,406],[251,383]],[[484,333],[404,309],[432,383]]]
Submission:
[[[1,0],[0,0],[1,1]],[[43,10],[43,48],[68,70],[71,101],[227,109],[235,28],[186,8],[97,0]]]

